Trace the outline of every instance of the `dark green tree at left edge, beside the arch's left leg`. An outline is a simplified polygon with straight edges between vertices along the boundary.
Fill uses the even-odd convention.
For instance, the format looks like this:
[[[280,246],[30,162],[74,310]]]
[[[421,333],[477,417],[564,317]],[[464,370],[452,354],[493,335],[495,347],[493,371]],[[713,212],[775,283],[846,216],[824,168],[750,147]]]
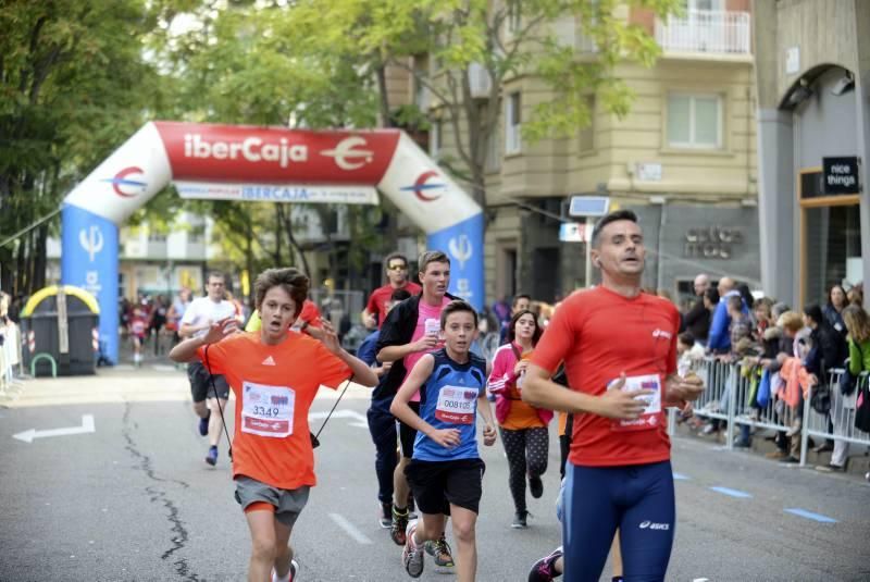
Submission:
[[[165,84],[142,58],[144,0],[0,2],[0,243],[63,195],[154,111]],[[44,286],[58,219],[0,247],[0,286]]]

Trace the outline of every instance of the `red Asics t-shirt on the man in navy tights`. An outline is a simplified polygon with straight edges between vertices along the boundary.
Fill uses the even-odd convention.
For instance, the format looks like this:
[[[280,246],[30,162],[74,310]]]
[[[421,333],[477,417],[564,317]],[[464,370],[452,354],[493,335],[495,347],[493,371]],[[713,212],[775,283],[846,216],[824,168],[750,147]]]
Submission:
[[[554,372],[564,360],[571,389],[594,396],[621,372],[644,379],[645,387],[647,379],[658,376],[663,403],[664,379],[676,372],[679,329],[680,313],[660,297],[642,293],[627,298],[605,287],[575,292],[550,320],[532,362]],[[597,414],[574,414],[569,459],[588,467],[668,460],[671,444],[664,407],[659,408],[629,428]]]

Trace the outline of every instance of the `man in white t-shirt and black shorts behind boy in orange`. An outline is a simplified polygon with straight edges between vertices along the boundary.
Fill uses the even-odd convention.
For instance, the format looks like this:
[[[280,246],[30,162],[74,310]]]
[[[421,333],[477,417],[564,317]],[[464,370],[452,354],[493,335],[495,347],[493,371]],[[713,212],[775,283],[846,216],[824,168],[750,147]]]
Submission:
[[[206,285],[208,295],[190,301],[182,318],[179,335],[183,338],[206,335],[212,323],[227,318],[238,318],[235,306],[224,299],[226,283],[222,273],[209,273]],[[239,323],[241,321],[239,320]],[[217,463],[217,442],[221,438],[221,419],[212,410],[226,409],[229,398],[229,384],[222,375],[214,376],[215,391],[211,388],[209,372],[202,362],[196,360],[187,364],[187,377],[190,381],[190,394],[194,397],[194,412],[199,417],[199,434],[209,436],[209,454],[206,462]],[[208,406],[207,406],[208,403]]]

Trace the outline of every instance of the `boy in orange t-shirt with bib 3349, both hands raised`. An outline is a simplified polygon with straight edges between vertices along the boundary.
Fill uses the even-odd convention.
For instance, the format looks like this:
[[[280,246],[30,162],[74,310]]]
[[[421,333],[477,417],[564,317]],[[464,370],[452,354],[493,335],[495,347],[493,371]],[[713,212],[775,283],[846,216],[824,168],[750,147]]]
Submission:
[[[296,575],[289,538],[316,483],[308,411],[319,386],[337,387],[349,379],[377,383],[364,362],[341,348],[327,322],[320,340],[289,330],[308,285],[296,269],[269,269],[254,283],[259,332],[238,333],[235,320],[226,319],[170,352],[177,362],[202,360],[211,373],[226,376],[236,395],[233,479],[251,533],[250,582]]]

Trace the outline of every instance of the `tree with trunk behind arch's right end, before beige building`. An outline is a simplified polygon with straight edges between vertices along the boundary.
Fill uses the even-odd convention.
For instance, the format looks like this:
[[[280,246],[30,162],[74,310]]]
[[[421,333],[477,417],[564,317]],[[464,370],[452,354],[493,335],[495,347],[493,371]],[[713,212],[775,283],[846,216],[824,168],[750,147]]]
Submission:
[[[485,163],[501,110],[505,83],[520,75],[544,79],[552,100],[535,108],[523,122],[531,140],[564,137],[589,122],[586,97],[596,94],[611,112],[627,113],[632,94],[614,75],[624,60],[650,66],[659,53],[639,25],[627,22],[626,9],[639,7],[658,16],[680,10],[680,0],[300,0],[293,11],[304,14],[307,42],[374,63],[406,69],[438,102],[450,127],[459,165],[450,165],[486,206]],[[550,25],[573,18],[594,44],[581,53],[560,41]],[[414,57],[425,55],[430,66]],[[472,92],[472,67],[486,71],[490,85],[480,98]]]

